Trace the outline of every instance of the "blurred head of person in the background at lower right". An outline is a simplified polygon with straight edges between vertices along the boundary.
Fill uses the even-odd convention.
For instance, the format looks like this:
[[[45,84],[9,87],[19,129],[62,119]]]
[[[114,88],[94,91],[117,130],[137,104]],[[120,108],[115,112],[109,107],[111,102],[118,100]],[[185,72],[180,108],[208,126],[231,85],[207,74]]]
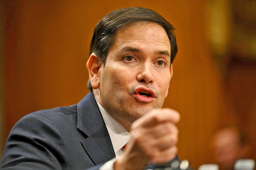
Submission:
[[[220,170],[233,170],[238,159],[250,158],[252,148],[244,132],[236,126],[226,126],[212,136],[210,147],[213,161]]]

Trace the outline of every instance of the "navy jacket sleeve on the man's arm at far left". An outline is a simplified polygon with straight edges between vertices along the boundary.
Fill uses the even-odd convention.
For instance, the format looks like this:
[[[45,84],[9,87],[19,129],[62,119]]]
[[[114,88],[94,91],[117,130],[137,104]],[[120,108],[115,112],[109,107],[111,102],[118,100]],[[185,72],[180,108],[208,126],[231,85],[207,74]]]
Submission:
[[[26,115],[7,138],[0,169],[62,169],[61,140],[51,121],[40,115]]]

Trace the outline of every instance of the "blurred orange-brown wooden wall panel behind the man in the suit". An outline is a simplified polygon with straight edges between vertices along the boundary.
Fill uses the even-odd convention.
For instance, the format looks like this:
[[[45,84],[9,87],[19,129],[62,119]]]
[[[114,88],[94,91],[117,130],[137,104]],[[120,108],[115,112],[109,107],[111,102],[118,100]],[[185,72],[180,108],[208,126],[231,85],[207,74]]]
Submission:
[[[176,28],[178,54],[164,107],[181,114],[179,157],[198,167],[210,162],[208,137],[229,104],[205,40],[204,2],[3,1],[6,135],[24,115],[68,106],[88,89],[85,63],[94,26],[109,11],[142,6],[159,12]],[[232,110],[232,109],[231,109]],[[235,118],[234,118],[235,119]],[[229,120],[229,118],[228,118]],[[230,120],[231,122],[233,119]],[[2,146],[3,147],[3,146]]]

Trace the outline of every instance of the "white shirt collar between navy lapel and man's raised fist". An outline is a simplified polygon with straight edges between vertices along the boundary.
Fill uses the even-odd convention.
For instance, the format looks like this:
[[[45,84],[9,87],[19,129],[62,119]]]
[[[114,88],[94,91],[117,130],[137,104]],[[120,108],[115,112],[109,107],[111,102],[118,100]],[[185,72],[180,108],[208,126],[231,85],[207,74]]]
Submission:
[[[119,122],[117,122],[112,116],[108,114],[108,112],[100,105],[96,98],[95,100],[108,129],[108,134],[116,154],[120,149],[123,148],[125,144],[127,144],[130,139],[130,133]]]

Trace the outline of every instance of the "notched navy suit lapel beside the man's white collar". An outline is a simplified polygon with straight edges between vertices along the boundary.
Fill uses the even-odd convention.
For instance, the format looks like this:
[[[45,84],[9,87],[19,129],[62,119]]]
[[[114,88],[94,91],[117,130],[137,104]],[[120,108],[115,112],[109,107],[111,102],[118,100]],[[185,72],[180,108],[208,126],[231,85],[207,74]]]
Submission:
[[[108,130],[92,92],[77,104],[77,128],[88,136],[81,143],[95,165],[115,157]]]

